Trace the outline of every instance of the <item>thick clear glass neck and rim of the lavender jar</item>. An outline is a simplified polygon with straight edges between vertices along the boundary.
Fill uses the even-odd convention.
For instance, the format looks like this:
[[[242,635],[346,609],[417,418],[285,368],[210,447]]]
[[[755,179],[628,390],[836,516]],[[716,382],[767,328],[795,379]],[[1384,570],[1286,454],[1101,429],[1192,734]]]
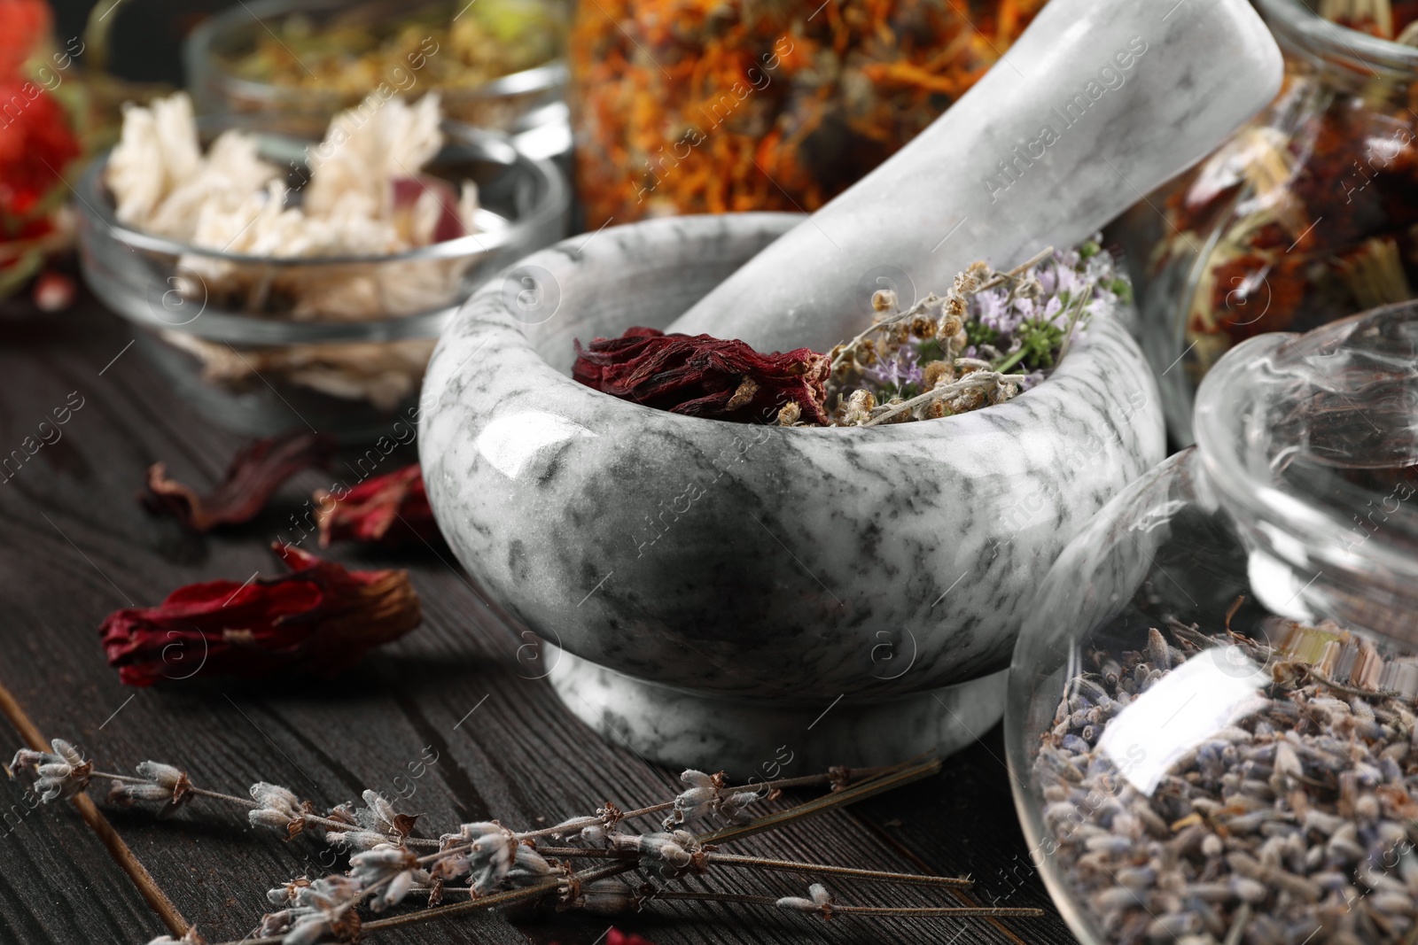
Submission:
[[[1194,424],[1268,609],[1418,643],[1418,303],[1246,341]]]

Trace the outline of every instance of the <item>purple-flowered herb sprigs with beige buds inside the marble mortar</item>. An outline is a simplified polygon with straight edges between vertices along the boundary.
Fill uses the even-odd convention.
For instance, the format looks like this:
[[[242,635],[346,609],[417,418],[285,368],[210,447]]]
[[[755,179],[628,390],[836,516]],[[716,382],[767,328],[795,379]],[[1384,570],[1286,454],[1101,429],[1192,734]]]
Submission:
[[[832,422],[875,426],[1003,404],[1058,367],[1076,327],[1130,295],[1098,237],[1007,272],[971,264],[944,296],[906,309],[892,290],[876,292],[873,323],[832,349]],[[780,422],[800,421],[787,411]]]

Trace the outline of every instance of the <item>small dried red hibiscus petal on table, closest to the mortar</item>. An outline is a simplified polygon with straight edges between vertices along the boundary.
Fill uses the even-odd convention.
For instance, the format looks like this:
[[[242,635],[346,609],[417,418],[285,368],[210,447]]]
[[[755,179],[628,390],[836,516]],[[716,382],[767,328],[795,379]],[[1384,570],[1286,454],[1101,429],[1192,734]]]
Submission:
[[[322,548],[328,548],[330,541],[401,544],[438,537],[418,463],[362,482],[343,499],[320,489],[315,493],[315,503],[319,507],[316,523]]]

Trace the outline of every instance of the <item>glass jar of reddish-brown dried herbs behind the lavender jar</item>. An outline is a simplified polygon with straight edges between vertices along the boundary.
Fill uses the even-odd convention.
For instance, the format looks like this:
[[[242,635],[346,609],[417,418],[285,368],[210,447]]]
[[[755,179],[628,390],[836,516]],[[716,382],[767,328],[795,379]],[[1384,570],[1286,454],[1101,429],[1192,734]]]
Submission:
[[[1197,384],[1231,346],[1401,302],[1418,285],[1418,48],[1302,0],[1256,7],[1285,52],[1280,95],[1117,234],[1180,445],[1193,442]]]

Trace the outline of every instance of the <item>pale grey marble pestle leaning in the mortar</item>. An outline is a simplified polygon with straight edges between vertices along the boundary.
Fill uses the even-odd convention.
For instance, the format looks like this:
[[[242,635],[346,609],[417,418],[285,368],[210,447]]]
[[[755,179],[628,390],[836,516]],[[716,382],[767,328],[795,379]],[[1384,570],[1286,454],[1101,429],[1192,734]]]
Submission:
[[[1276,94],[1280,52],[1245,0],[1052,0],[1005,57],[891,160],[668,326],[825,351],[976,259],[1085,239]]]

